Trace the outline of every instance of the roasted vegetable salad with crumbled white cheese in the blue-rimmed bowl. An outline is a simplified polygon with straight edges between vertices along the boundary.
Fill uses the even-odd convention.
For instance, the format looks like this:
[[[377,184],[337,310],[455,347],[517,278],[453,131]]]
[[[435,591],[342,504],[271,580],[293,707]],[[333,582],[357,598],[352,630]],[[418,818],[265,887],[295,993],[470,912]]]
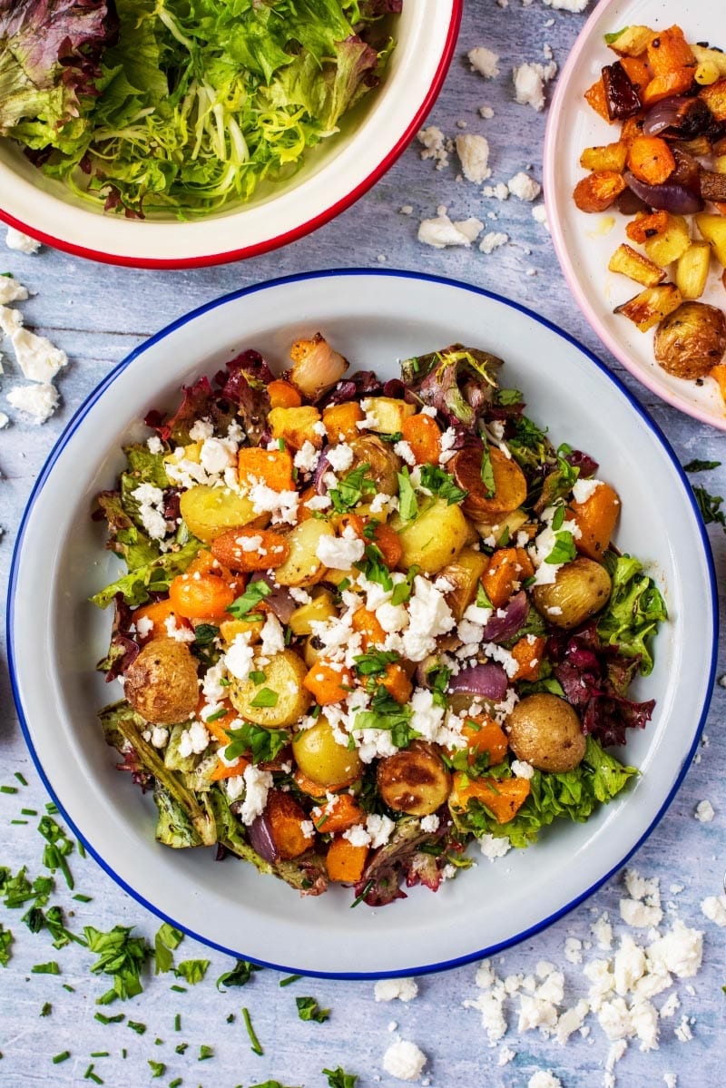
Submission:
[[[99,664],[157,839],[304,894],[389,903],[586,820],[637,774],[666,618],[612,544],[619,498],[463,345],[385,383],[324,337],[256,351],[150,411],[98,497],[126,572]]]

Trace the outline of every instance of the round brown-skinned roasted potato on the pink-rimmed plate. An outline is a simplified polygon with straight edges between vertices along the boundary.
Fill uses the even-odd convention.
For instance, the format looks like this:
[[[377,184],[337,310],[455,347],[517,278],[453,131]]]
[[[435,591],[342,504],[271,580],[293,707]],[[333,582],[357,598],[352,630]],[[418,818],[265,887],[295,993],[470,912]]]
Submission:
[[[704,378],[726,351],[726,318],[706,302],[684,302],[655,332],[655,360],[676,378]]]

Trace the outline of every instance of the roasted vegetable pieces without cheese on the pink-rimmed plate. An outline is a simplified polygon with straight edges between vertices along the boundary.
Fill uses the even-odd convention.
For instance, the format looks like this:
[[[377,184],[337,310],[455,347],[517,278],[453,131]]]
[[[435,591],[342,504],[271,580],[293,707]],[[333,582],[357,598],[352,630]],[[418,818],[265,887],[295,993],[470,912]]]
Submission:
[[[575,203],[629,219],[608,269],[639,289],[615,312],[655,327],[668,374],[713,380],[726,400],[726,314],[701,300],[712,265],[726,287],[726,54],[679,26],[626,26],[605,44],[613,59],[585,98],[618,131],[582,151]]]

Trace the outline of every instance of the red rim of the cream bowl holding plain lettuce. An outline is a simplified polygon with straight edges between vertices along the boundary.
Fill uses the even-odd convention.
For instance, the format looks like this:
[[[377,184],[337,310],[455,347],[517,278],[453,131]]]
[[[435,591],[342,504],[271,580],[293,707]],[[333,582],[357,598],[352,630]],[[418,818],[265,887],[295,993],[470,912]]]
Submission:
[[[63,242],[60,238],[53,237],[51,234],[34,230],[34,227],[29,226],[27,223],[23,223],[21,220],[15,219],[14,215],[3,211],[2,208],[0,208],[0,220],[5,222],[9,226],[14,226],[17,231],[22,231],[24,234],[29,234],[30,237],[36,238],[38,242],[41,242],[47,246],[51,246],[53,249],[61,249],[66,254],[73,254],[76,257],[85,257],[89,260],[101,261],[106,264],[120,264],[126,268],[138,269],[206,268],[211,264],[224,264],[229,261],[238,261],[247,257],[257,257],[260,254],[267,254],[273,249],[279,249],[281,246],[285,246],[291,242],[296,242],[298,238],[317,231],[319,226],[330,222],[331,219],[334,219],[342,211],[345,211],[346,208],[349,208],[350,205],[355,203],[359,197],[367,193],[368,189],[371,188],[371,186],[374,185],[387,170],[390,170],[396,159],[408,147],[410,140],[418,132],[421,122],[438,98],[441,86],[446,77],[446,73],[448,72],[448,67],[454,55],[454,48],[458,38],[463,10],[464,0],[453,0],[452,17],[448,24],[446,41],[444,42],[444,49],[441,54],[439,67],[436,69],[435,75],[431,82],[431,86],[429,87],[426,98],[414,114],[410,123],[404,129],[385,158],[382,159],[376,169],[372,170],[367,177],[359,182],[354,189],[347,193],[334,205],[327,208],[325,211],[320,212],[320,214],[315,215],[312,219],[307,220],[305,223],[300,223],[298,226],[286,231],[284,234],[279,234],[273,238],[266,239],[264,242],[255,243],[255,245],[251,246],[242,246],[238,249],[230,249],[222,254],[209,254],[205,257],[180,257],[165,260],[163,258],[156,257],[137,258],[125,257],[118,254],[104,254],[97,249],[88,249],[85,246],[74,245],[72,242]]]

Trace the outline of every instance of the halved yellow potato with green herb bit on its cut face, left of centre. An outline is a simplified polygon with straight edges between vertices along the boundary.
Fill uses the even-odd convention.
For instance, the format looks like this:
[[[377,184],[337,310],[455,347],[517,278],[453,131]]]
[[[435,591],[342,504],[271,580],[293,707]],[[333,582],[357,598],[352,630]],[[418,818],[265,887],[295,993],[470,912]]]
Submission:
[[[295,651],[283,650],[261,671],[264,680],[259,683],[232,679],[229,688],[232,705],[247,721],[267,729],[294,725],[310,705],[310,695],[303,687],[308,671],[305,662]]]

